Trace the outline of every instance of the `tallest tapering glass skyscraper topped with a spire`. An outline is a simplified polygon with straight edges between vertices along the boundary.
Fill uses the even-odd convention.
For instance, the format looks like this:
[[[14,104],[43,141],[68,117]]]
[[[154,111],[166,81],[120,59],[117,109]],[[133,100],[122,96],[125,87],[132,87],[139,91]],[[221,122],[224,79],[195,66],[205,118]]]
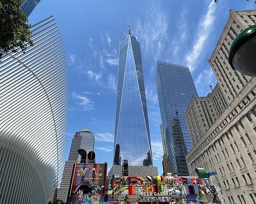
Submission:
[[[152,165],[140,43],[127,35],[119,46],[114,164]]]

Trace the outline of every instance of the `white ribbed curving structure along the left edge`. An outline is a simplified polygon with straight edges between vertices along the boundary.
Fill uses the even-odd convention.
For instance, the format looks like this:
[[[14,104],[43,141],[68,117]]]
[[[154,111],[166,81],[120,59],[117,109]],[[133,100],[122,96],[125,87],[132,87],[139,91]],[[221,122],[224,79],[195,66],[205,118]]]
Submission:
[[[67,134],[67,62],[53,17],[34,46],[0,63],[0,203],[46,203],[60,184]]]

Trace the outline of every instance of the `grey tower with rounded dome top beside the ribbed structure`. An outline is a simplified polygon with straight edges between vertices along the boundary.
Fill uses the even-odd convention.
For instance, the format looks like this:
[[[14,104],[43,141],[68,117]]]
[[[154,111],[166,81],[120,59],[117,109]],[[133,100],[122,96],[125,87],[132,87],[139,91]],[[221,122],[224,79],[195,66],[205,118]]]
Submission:
[[[62,181],[57,192],[57,199],[62,200],[63,202],[67,201],[73,165],[77,162],[80,162],[79,160],[81,159],[77,150],[84,149],[88,154],[89,151],[93,151],[94,149],[94,141],[95,137],[93,133],[88,129],[83,129],[79,132],[76,132],[74,135],[70,147],[69,158],[65,163]],[[50,201],[52,201],[51,198]]]

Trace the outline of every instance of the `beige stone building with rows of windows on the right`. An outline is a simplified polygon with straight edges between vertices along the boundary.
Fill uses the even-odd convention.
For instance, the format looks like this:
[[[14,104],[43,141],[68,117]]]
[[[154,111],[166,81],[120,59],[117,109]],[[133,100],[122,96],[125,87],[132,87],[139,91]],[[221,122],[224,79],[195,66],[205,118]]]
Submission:
[[[228,64],[233,39],[255,23],[256,10],[230,10],[208,60],[218,83],[206,97],[194,97],[185,114],[193,142],[189,173],[216,171],[226,203],[256,203],[256,79]]]

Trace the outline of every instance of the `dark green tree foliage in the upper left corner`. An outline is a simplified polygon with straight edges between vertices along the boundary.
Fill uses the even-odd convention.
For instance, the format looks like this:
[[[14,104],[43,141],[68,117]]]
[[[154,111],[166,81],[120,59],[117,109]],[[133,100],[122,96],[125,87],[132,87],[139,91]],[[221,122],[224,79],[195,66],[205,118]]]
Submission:
[[[24,0],[0,0],[0,58],[20,48],[25,52],[33,45],[30,25],[26,14],[20,9]]]

